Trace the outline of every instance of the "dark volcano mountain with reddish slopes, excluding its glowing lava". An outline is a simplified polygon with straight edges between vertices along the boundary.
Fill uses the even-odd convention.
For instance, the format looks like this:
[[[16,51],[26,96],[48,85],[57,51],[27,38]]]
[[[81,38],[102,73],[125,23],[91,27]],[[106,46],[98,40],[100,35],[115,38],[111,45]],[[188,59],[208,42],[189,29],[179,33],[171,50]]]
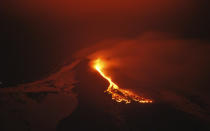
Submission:
[[[1,105],[4,107],[1,112],[8,112],[6,118],[10,124],[16,125],[17,130],[39,131],[208,128],[198,118],[164,102],[125,104],[113,101],[110,94],[104,93],[108,81],[90,69],[88,60],[72,65],[45,80],[1,91]],[[76,81],[70,82],[72,72],[75,72]],[[5,103],[10,106],[6,107]],[[6,126],[1,129],[14,130]]]

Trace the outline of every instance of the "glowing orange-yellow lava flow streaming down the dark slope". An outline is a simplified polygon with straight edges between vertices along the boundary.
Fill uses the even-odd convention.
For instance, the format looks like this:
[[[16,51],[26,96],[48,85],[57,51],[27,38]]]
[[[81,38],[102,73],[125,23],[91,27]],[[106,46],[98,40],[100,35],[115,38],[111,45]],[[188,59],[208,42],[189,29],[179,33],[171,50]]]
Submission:
[[[119,86],[115,84],[109,76],[105,75],[103,71],[104,66],[105,63],[101,59],[94,61],[94,69],[97,70],[99,74],[109,82],[109,86],[105,92],[111,94],[113,100],[117,102],[125,102],[126,104],[131,103],[131,101],[136,101],[139,103],[153,102],[151,99],[141,97],[130,90],[119,88]]]

